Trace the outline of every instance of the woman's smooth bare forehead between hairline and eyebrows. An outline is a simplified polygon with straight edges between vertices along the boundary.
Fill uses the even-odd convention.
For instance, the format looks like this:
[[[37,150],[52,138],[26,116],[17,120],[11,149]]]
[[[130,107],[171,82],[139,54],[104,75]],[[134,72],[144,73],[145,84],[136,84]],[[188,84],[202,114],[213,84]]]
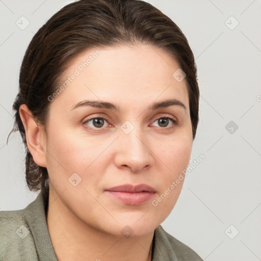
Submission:
[[[189,107],[186,81],[173,77],[178,69],[173,57],[151,45],[92,48],[71,61],[59,83],[66,88],[56,99],[71,107],[83,99],[142,105],[176,98]]]

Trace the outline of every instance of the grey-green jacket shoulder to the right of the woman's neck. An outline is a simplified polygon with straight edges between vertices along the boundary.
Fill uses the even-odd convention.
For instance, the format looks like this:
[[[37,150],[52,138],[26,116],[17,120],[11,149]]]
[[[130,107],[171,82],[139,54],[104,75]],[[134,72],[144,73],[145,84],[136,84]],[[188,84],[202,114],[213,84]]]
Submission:
[[[203,261],[193,249],[171,236],[161,225],[155,231],[158,240],[162,242],[162,248],[168,252],[170,260]]]

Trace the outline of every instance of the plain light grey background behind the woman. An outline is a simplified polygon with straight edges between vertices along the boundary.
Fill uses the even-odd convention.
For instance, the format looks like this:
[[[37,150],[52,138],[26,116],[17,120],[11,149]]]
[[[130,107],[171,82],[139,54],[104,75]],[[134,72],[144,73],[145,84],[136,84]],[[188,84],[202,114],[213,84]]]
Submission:
[[[1,210],[24,208],[37,196],[25,185],[24,147],[18,133],[6,145],[13,126],[12,104],[22,57],[33,35],[71,2],[0,0]],[[162,226],[204,260],[261,260],[261,2],[146,2],[177,23],[194,52],[200,122],[191,161],[205,155],[186,177]],[[24,30],[16,25],[21,16],[30,21]],[[237,130],[228,125],[227,131],[230,121]]]

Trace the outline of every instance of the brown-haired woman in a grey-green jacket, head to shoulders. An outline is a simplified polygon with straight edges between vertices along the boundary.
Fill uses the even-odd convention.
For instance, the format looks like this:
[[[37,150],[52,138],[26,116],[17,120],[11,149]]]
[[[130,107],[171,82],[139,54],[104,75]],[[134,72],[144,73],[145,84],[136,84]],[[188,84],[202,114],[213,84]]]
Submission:
[[[160,225],[198,124],[193,53],[135,0],[65,6],[22,62],[15,125],[37,199],[1,213],[2,260],[202,260]],[[179,181],[178,181],[179,180]]]

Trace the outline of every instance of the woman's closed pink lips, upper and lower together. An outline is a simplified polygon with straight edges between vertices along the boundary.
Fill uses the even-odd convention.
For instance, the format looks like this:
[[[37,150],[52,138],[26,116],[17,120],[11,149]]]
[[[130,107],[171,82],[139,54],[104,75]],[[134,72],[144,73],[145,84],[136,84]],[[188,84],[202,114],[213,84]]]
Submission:
[[[117,186],[106,190],[114,198],[128,205],[141,205],[150,200],[156,191],[146,184],[133,186],[130,184]]]

